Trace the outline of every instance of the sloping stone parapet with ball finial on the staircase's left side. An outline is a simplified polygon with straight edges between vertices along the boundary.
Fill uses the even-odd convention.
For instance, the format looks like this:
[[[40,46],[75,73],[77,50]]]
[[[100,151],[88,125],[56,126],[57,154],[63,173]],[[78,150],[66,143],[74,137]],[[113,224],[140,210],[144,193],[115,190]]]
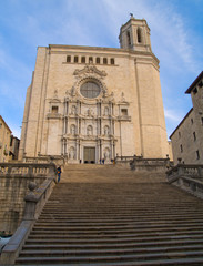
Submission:
[[[45,202],[55,185],[55,174],[48,177],[38,188],[30,182],[30,193],[24,197],[26,207],[22,222],[1,254],[1,265],[13,265],[35,219],[39,217]]]

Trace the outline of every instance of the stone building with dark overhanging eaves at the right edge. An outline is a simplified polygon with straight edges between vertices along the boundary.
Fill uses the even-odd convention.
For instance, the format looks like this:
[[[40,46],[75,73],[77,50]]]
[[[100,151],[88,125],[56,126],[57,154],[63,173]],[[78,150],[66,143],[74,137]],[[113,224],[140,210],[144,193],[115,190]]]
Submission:
[[[203,164],[203,72],[186,90],[193,108],[184,116],[170,139],[174,164]]]

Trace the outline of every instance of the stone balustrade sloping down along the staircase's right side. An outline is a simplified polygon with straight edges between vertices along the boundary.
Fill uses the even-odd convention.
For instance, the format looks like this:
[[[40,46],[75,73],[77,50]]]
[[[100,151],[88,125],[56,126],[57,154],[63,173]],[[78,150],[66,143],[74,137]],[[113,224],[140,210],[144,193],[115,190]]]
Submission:
[[[166,171],[170,184],[203,200],[203,165],[177,164]]]

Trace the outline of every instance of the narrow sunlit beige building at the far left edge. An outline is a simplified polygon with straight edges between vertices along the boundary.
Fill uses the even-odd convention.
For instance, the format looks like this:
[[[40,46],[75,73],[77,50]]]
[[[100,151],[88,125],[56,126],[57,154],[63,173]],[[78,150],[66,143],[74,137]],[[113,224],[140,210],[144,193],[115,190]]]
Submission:
[[[0,115],[0,162],[10,160],[11,130]]]

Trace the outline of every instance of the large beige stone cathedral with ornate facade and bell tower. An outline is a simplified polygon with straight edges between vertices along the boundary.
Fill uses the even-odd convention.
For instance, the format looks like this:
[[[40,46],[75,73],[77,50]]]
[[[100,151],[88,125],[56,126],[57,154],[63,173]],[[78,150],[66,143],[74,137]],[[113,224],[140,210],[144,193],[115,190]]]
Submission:
[[[121,27],[120,49],[39,47],[28,88],[20,158],[110,162],[169,154],[159,60],[145,20]]]

